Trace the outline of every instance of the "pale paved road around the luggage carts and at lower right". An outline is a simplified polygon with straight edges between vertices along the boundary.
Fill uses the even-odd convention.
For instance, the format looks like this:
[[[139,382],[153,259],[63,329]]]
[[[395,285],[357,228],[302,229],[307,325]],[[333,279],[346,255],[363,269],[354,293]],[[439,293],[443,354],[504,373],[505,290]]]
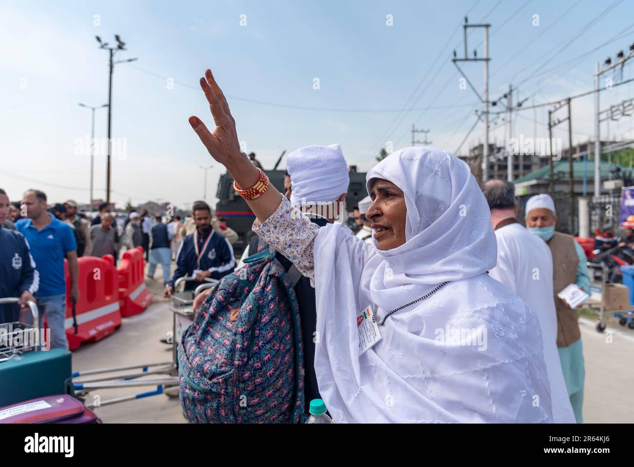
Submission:
[[[157,272],[157,277],[159,273]],[[119,331],[95,344],[82,345],[73,353],[73,369],[143,364],[171,360],[171,347],[159,342],[172,329],[172,313],[160,298],[160,281],[148,281],[155,299],[145,312],[124,318]],[[613,322],[607,331],[595,330],[595,321],[580,320],[586,362],[585,423],[633,423],[634,330]],[[608,342],[611,337],[611,342]],[[94,391],[102,400],[152,388]],[[96,409],[105,423],[186,423],[178,398],[165,395],[106,405]]]

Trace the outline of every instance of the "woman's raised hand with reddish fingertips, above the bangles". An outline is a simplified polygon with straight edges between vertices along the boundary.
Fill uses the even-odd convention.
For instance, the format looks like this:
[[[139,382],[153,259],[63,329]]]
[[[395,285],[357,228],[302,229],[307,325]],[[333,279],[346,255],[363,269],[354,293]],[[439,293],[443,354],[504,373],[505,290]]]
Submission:
[[[209,102],[209,109],[214,117],[216,129],[210,132],[207,126],[193,115],[189,119],[191,128],[196,131],[211,157],[224,166],[231,165],[231,162],[236,161],[241,156],[236,122],[231,115],[223,91],[216,83],[211,70],[206,70],[205,77],[200,78],[200,87],[205,93],[207,102]]]

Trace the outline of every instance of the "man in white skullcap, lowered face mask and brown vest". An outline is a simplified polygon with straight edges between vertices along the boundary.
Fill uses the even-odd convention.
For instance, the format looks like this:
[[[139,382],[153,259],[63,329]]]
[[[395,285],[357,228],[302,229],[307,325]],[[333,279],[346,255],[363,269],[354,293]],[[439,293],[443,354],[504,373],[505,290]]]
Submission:
[[[555,232],[556,223],[555,202],[550,195],[535,195],[526,202],[526,227],[547,243],[552,254],[557,348],[574,417],[577,423],[581,423],[585,368],[578,324],[579,313],[557,294],[569,284],[576,284],[590,294],[590,275],[583,249],[571,235]]]

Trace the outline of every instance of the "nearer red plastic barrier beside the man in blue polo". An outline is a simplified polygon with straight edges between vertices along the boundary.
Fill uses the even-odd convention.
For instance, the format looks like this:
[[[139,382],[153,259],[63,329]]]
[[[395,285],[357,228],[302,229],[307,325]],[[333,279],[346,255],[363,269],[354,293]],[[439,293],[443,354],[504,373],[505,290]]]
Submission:
[[[70,272],[64,260],[66,275],[66,319],[64,327],[68,348],[75,350],[86,341],[96,342],[110,336],[121,326],[119,291],[114,258],[107,254],[103,258],[82,256],[77,258],[79,303],[75,303],[77,332],[73,326],[72,301],[70,301]],[[46,317],[44,318],[46,322]],[[46,327],[46,324],[44,324]]]

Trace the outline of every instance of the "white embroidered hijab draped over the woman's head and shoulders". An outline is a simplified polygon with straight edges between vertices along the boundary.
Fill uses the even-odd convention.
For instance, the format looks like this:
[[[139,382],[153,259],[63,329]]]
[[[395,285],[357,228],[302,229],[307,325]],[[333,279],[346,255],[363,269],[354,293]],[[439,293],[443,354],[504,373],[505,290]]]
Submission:
[[[375,178],[404,192],[406,242],[379,251],[330,224],[314,243],[315,372],[335,421],[550,421],[539,322],[486,274],[496,239],[469,166],[437,148],[406,148],[368,172],[368,191]],[[381,341],[359,355],[366,306],[378,305],[378,322],[444,281],[387,318]],[[486,336],[486,349],[440,339],[453,330]]]

